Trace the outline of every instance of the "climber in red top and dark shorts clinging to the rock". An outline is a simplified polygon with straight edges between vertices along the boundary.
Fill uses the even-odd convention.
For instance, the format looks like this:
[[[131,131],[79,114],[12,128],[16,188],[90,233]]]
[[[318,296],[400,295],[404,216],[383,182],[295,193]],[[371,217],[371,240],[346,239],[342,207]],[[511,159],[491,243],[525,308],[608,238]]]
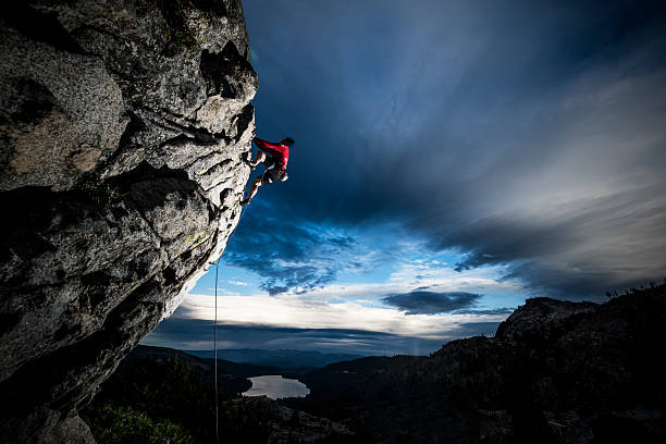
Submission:
[[[249,195],[244,200],[240,200],[242,206],[248,205],[250,200],[252,200],[252,197],[255,197],[261,185],[272,184],[279,181],[284,182],[287,180],[286,164],[289,161],[289,147],[294,145],[294,139],[291,137],[285,137],[278,144],[266,141],[259,137],[255,137],[252,141],[257,145],[259,150],[254,160],[246,160],[246,162],[252,170],[260,162],[263,162],[266,170],[263,170],[263,174],[255,178],[250,186]]]

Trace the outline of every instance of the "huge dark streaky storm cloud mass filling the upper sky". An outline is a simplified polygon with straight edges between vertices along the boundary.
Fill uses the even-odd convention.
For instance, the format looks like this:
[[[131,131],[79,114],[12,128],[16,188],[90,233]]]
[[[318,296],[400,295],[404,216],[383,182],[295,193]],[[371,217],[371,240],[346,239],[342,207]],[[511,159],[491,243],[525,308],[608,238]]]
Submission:
[[[291,180],[261,190],[285,220],[271,236],[404,221],[467,254],[459,270],[506,263],[565,297],[666,274],[663,2],[244,7],[257,132],[296,139]],[[272,292],[325,284],[308,235],[280,247],[297,266],[238,263]]]

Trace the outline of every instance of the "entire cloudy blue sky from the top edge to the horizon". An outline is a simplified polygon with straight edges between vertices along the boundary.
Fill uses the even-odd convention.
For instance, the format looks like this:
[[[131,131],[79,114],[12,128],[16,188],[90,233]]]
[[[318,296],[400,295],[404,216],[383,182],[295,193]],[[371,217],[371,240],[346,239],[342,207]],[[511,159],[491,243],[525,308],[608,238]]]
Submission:
[[[220,348],[422,355],[666,276],[661,2],[243,5],[257,135],[296,144],[223,255]],[[144,343],[211,348],[213,294]]]

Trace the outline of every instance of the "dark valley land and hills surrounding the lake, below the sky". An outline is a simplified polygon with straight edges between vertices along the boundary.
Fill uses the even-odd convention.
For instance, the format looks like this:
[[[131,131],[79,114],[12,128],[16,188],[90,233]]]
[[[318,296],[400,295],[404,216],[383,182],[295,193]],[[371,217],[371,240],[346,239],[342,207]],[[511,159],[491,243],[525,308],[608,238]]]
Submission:
[[[365,357],[301,371],[333,358],[220,350],[271,363],[218,361],[222,430],[230,443],[661,443],[666,366],[656,357],[665,324],[661,285],[602,305],[529,299],[494,337],[453,341],[431,356]],[[131,406],[207,442],[212,363],[139,346],[84,418],[96,424],[100,408]],[[240,396],[247,378],[267,374],[297,379],[309,394]]]

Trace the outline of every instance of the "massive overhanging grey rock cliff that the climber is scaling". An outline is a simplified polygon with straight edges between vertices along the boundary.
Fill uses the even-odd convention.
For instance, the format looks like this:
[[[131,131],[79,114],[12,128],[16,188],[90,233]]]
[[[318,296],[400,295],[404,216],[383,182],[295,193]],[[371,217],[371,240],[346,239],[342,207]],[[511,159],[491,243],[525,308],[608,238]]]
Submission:
[[[0,442],[48,441],[222,254],[258,83],[238,0],[21,2],[0,53]]]

